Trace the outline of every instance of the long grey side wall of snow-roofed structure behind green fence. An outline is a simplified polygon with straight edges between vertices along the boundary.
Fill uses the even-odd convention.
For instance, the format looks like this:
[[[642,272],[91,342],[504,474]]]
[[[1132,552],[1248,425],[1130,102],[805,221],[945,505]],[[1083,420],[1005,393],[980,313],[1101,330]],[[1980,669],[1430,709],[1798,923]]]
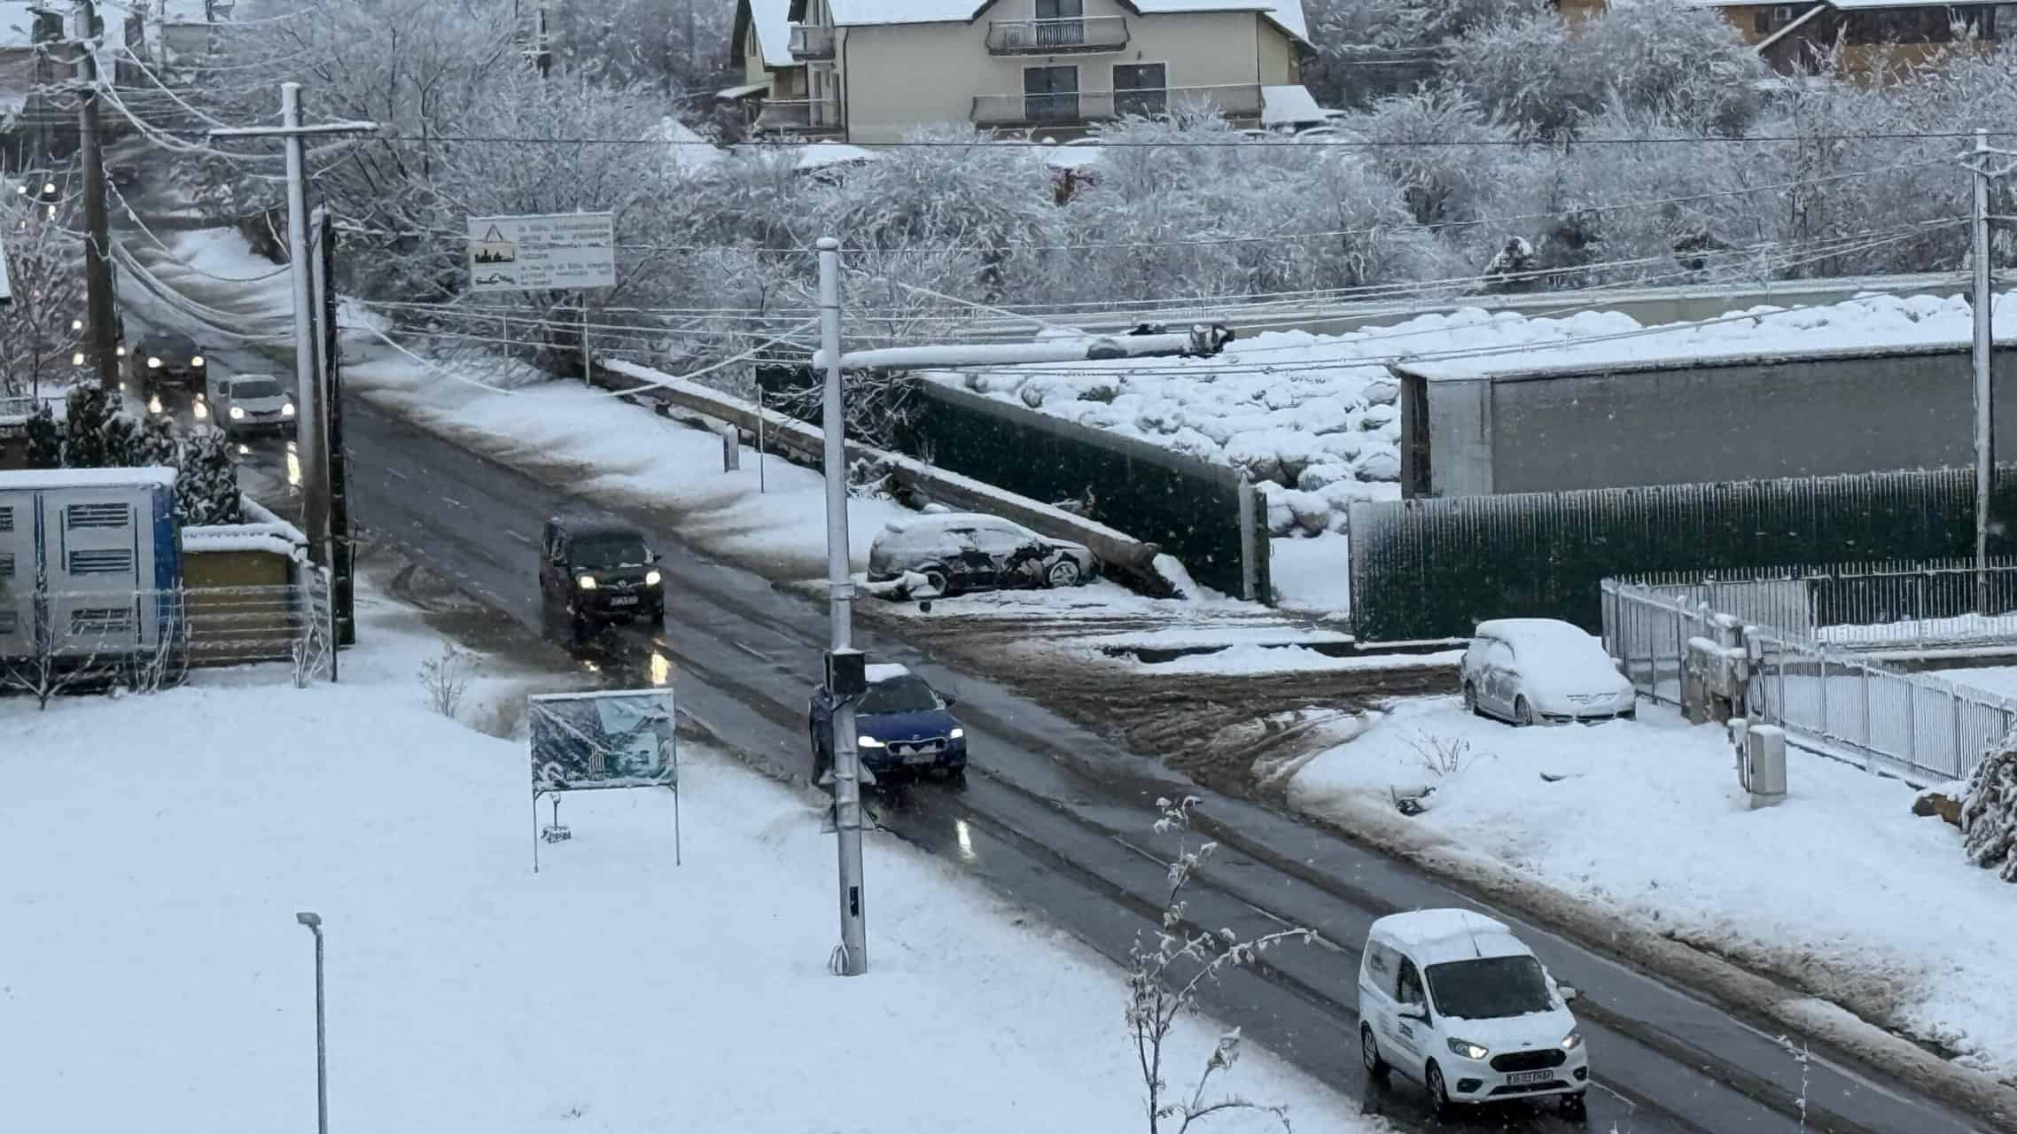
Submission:
[[[1997,436],[2017,438],[2017,345],[1995,365]],[[1509,371],[1428,379],[1394,367],[1414,398],[1402,438],[1420,448],[1428,494],[1561,492],[1973,462],[1967,347],[1884,355],[1650,363],[1608,371]],[[1404,490],[1420,474],[1404,470]],[[1408,494],[1420,494],[1408,492]]]

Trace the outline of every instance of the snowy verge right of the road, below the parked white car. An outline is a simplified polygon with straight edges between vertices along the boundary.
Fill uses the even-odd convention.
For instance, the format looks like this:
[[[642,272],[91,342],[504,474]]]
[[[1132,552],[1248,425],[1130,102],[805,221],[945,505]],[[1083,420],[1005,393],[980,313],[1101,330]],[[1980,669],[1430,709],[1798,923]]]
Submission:
[[[1404,700],[1303,767],[1289,797],[1446,839],[1438,854],[1495,860],[2017,1073],[2017,999],[1985,995],[2017,981],[2017,892],[1963,860],[1954,827],[1914,817],[1910,787],[1801,751],[1785,803],[1749,811],[1718,726],[1640,712],[1515,730],[1456,698]],[[1390,793],[1426,787],[1428,811],[1402,819]]]

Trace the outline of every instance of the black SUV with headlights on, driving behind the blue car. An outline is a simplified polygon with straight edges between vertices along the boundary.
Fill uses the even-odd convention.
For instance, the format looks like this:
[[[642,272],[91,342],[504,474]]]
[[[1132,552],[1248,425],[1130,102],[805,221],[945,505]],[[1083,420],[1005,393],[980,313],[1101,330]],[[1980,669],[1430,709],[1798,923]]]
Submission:
[[[658,553],[643,533],[603,517],[553,517],[541,539],[539,593],[579,636],[611,621],[666,621]]]

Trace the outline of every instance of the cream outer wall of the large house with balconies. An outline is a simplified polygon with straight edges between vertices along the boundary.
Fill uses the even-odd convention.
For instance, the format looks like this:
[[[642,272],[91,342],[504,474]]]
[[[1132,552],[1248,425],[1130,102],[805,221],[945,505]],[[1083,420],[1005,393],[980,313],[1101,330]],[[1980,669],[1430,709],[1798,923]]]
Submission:
[[[1162,63],[1170,87],[1293,83],[1289,36],[1257,12],[1138,16],[1085,0],[1085,18],[1128,20],[1115,52],[990,54],[990,20],[1033,20],[1035,0],[1002,0],[978,20],[839,28],[835,65],[847,95],[847,141],[902,141],[918,125],[972,121],[976,95],[1023,95],[1023,69],[1077,67],[1079,93],[1113,91],[1115,65]],[[1103,103],[1103,99],[1101,99]]]

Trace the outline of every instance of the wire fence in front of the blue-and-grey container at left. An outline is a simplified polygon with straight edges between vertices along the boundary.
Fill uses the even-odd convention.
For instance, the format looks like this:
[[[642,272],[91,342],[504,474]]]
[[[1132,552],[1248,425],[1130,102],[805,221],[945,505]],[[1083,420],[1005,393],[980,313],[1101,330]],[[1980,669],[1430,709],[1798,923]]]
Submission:
[[[198,666],[282,662],[331,676],[329,579],[169,591],[0,591],[0,690],[50,696],[107,682],[180,684]]]

